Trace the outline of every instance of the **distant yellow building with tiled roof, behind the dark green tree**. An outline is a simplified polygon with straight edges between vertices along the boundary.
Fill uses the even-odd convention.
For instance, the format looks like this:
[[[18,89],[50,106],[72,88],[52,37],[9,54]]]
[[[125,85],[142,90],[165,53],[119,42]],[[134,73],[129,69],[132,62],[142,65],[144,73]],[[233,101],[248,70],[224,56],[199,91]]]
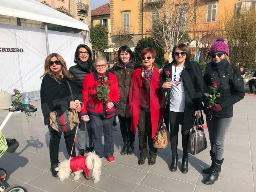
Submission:
[[[110,5],[106,3],[98,8],[95,8],[91,11],[91,24],[97,25],[102,24],[108,30],[108,45],[111,45],[111,22],[110,22]]]

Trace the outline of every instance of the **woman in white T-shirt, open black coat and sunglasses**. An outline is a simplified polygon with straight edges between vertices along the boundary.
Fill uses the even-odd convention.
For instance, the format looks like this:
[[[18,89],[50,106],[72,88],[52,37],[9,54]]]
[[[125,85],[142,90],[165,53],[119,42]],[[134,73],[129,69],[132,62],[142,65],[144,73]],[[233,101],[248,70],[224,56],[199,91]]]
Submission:
[[[172,162],[170,170],[177,170],[178,132],[181,125],[182,167],[188,172],[188,139],[195,116],[203,109],[203,77],[197,62],[190,61],[190,49],[184,43],[175,45],[172,51],[173,62],[163,68],[162,90],[167,92],[165,124],[170,124]]]

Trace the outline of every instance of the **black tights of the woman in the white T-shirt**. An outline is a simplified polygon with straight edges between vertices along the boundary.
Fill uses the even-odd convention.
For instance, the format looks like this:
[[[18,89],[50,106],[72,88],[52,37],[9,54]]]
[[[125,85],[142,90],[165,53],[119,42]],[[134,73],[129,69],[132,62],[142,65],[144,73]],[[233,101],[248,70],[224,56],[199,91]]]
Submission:
[[[170,130],[171,130],[171,152],[173,156],[176,156],[178,141],[179,141],[178,140],[179,124],[170,123]],[[190,129],[181,131],[183,157],[188,157],[187,146],[188,146],[188,140],[189,140],[189,132],[190,132]]]

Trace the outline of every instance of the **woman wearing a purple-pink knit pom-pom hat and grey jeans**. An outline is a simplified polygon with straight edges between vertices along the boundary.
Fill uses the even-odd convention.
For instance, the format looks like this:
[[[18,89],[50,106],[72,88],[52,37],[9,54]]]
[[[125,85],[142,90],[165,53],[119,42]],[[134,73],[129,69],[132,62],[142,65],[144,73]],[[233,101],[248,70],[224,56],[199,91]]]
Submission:
[[[214,106],[204,95],[204,112],[211,144],[211,166],[203,170],[209,174],[204,184],[213,184],[221,172],[224,154],[224,139],[233,117],[233,104],[244,98],[244,83],[239,69],[230,64],[228,45],[223,38],[217,39],[210,48],[211,62],[205,67],[204,93],[212,94],[213,81],[217,82],[217,97]],[[214,84],[216,84],[214,82]]]

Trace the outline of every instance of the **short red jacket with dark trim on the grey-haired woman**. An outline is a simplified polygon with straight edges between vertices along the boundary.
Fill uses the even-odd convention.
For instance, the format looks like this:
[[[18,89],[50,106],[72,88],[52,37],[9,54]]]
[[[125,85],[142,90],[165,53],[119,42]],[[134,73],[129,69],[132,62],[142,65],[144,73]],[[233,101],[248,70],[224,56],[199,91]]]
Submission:
[[[114,107],[111,109],[107,108],[107,103],[103,100],[97,98],[97,92],[95,90],[95,85],[97,85],[98,74],[97,72],[86,75],[83,79],[83,106],[81,109],[81,116],[93,114],[102,115],[103,117],[109,118],[116,114],[116,106],[120,97],[120,90],[118,88],[116,75],[106,72],[106,77],[108,81],[113,80],[109,83],[110,92],[108,94],[109,102],[114,103]]]

